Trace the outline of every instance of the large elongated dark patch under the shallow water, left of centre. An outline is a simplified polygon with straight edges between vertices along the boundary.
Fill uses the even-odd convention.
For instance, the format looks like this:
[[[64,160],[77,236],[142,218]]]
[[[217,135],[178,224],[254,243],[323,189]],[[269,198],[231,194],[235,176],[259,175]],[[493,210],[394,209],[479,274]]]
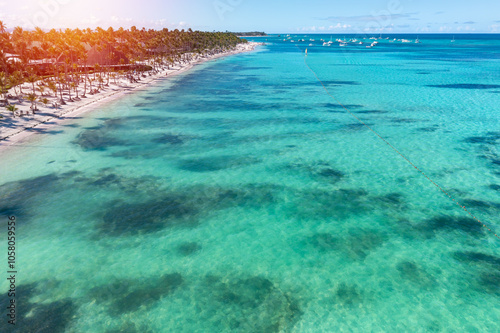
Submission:
[[[222,209],[238,206],[262,208],[275,203],[280,187],[245,184],[238,189],[193,186],[176,191],[151,191],[146,186],[142,203],[114,201],[106,203],[100,216],[100,236],[149,234],[168,228],[192,228],[200,218]],[[137,193],[136,193],[137,194]]]

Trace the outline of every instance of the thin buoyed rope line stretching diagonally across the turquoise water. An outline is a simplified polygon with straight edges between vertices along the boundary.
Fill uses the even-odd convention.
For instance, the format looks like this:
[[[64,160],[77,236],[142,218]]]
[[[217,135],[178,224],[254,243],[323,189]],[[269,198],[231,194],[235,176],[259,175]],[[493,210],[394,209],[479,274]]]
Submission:
[[[399,156],[401,156],[406,162],[408,162],[413,168],[415,168],[422,176],[424,176],[425,178],[427,178],[427,180],[429,182],[431,182],[435,187],[437,187],[441,192],[443,192],[449,199],[451,199],[454,203],[456,203],[458,206],[460,206],[460,208],[462,208],[467,214],[469,214],[473,219],[474,221],[478,222],[479,224],[481,224],[481,226],[483,226],[483,228],[487,229],[488,231],[490,231],[493,235],[495,235],[496,238],[500,239],[500,237],[493,231],[491,230],[491,228],[489,228],[486,224],[484,224],[483,222],[481,222],[481,220],[479,220],[476,216],[474,216],[474,214],[472,214],[470,211],[467,210],[467,208],[465,206],[462,206],[457,200],[455,200],[455,198],[453,198],[448,192],[446,192],[441,186],[439,186],[439,184],[437,184],[435,181],[433,181],[429,176],[427,176],[421,169],[419,169],[415,164],[413,164],[412,161],[410,161],[405,155],[403,155],[396,147],[394,147],[389,141],[387,141],[386,139],[384,139],[380,134],[378,134],[373,128],[371,128],[370,126],[368,126],[365,122],[363,122],[361,119],[359,119],[354,113],[352,113],[351,111],[349,111],[349,109],[347,109],[342,103],[340,103],[336,98],[335,96],[333,96],[329,91],[328,89],[326,88],[326,86],[324,85],[323,81],[321,81],[321,79],[318,77],[318,75],[316,74],[316,72],[314,72],[312,70],[311,67],[309,67],[309,65],[307,64],[307,50],[306,50],[306,53],[304,54],[304,64],[306,65],[306,67],[314,74],[314,76],[316,77],[316,80],[319,81],[319,83],[321,83],[321,85],[323,86],[323,89],[326,91],[326,93],[328,94],[328,96],[330,96],[334,101],[335,103],[337,103],[338,105],[340,105],[345,111],[347,111],[353,118],[355,118],[358,122],[360,122],[363,126],[365,126],[366,128],[368,128],[373,134],[375,134],[379,139],[381,139],[383,142],[385,142],[389,147],[392,148],[392,150],[394,150],[396,153],[398,153]]]

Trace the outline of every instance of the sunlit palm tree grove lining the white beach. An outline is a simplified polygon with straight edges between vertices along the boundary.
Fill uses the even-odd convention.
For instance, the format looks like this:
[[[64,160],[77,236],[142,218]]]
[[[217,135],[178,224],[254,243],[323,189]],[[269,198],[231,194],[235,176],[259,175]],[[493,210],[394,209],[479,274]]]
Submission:
[[[9,33],[0,21],[0,105],[8,99],[36,102],[47,97],[66,104],[105,89],[110,80],[141,79],[145,72],[158,73],[183,64],[195,55],[210,56],[246,43],[229,32],[184,29],[109,28],[26,31]],[[24,84],[29,84],[26,92]],[[78,95],[78,87],[83,93]],[[15,96],[9,96],[13,88]]]

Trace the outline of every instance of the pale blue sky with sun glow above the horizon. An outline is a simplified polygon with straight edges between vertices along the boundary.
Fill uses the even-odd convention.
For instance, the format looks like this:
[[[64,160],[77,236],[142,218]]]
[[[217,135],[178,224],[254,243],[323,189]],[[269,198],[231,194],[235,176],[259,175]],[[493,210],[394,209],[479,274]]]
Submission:
[[[498,0],[0,0],[7,28],[500,33]]]

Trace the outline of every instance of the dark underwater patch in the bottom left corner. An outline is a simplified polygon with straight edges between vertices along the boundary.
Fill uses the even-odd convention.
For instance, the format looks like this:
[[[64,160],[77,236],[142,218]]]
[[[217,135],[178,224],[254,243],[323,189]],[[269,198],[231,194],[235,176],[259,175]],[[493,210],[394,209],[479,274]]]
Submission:
[[[76,313],[73,301],[63,299],[51,303],[32,303],[30,300],[38,295],[37,284],[19,285],[16,287],[17,318],[16,325],[8,324],[7,317],[0,321],[1,332],[65,332]],[[0,306],[7,309],[10,297],[1,295]],[[4,311],[5,312],[5,311]]]

